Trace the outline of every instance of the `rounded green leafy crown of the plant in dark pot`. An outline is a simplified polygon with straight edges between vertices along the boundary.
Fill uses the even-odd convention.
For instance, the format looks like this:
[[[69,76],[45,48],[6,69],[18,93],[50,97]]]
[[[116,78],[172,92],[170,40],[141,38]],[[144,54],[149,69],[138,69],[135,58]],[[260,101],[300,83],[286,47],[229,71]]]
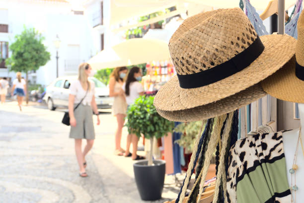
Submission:
[[[153,96],[141,96],[129,107],[126,124],[129,134],[159,138],[172,131],[174,123],[159,116],[153,106],[153,100]]]

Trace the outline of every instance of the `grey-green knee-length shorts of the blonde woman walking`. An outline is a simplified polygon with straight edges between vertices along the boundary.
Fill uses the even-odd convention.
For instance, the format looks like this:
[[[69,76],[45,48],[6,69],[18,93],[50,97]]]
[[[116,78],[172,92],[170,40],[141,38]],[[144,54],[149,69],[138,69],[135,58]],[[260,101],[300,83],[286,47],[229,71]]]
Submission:
[[[93,112],[89,105],[80,104],[74,111],[76,127],[71,126],[70,138],[95,139]]]

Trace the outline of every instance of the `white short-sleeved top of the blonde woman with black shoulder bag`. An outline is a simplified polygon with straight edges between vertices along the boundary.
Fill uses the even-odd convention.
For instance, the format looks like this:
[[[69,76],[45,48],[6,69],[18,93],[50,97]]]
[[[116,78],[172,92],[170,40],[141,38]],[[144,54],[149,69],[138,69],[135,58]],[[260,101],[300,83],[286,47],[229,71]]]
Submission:
[[[89,82],[90,82],[91,88],[87,92],[85,98],[83,99],[82,104],[90,106],[93,95],[95,95],[95,83],[92,81],[89,81]],[[70,89],[70,94],[75,95],[74,103],[78,104],[86,93],[86,91],[82,88],[80,81],[78,79],[75,81],[72,81],[69,89]]]

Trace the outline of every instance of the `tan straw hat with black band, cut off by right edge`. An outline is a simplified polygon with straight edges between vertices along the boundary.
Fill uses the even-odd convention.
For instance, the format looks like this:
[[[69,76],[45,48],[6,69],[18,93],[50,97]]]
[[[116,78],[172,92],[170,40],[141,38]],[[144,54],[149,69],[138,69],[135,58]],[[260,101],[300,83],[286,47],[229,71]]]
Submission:
[[[296,57],[291,60],[290,65],[262,81],[262,87],[278,99],[304,103],[304,12],[298,20]]]

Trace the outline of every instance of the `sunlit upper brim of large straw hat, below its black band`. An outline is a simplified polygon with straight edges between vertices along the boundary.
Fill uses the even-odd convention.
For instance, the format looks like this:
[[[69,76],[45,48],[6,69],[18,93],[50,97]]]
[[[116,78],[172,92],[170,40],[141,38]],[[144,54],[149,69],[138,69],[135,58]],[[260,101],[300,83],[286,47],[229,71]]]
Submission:
[[[162,111],[178,111],[219,101],[272,75],[295,54],[296,39],[291,36],[264,35],[260,38],[265,49],[249,67],[218,82],[193,89],[181,88],[175,75],[157,92],[154,106]]]

